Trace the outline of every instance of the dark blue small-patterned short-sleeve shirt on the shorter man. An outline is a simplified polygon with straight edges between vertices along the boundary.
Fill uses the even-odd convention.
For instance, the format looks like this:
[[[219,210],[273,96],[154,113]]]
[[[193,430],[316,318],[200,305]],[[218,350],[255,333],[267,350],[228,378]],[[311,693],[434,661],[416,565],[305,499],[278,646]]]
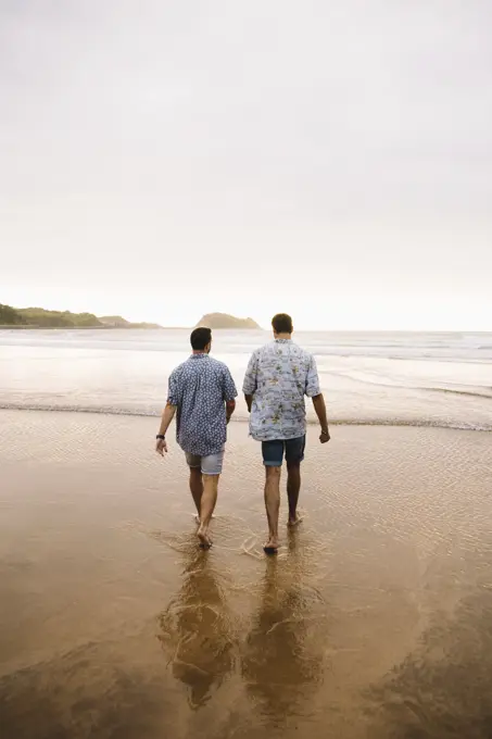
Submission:
[[[192,354],[169,377],[167,402],[176,405],[176,433],[185,452],[217,454],[227,439],[226,402],[237,396],[229,369],[209,354]]]

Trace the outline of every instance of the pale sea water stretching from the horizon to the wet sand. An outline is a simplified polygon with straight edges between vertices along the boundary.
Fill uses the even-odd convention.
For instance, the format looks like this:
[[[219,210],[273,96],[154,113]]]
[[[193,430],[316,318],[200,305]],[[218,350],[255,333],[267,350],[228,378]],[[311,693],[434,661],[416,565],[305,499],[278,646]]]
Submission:
[[[213,353],[242,386],[264,331],[215,331]],[[299,333],[332,423],[492,430],[492,334]],[[155,415],[189,331],[0,330],[0,408]],[[235,419],[245,421],[243,402]]]

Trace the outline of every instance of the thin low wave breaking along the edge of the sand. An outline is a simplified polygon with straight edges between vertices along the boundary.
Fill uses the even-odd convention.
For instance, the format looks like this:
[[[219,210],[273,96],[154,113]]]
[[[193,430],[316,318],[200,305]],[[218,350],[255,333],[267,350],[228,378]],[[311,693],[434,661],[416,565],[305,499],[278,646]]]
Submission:
[[[115,406],[91,405],[52,405],[48,403],[8,403],[0,402],[0,411],[38,411],[43,413],[89,413],[110,416],[128,416],[139,418],[159,418],[161,412],[153,409],[126,409]],[[247,416],[234,416],[234,423],[248,423]],[[307,418],[307,424],[317,425],[315,418]],[[450,428],[462,431],[492,433],[492,423],[474,423],[445,418],[404,418],[400,416],[376,417],[332,417],[330,426],[402,426],[415,428]]]

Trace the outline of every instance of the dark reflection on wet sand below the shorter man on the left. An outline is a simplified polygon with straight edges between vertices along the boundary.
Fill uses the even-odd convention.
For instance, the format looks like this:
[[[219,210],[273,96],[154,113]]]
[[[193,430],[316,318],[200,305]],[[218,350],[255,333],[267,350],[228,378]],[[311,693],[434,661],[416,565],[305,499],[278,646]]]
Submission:
[[[192,709],[203,706],[232,671],[234,629],[225,591],[209,552],[190,546],[182,586],[159,617],[159,639],[173,675],[188,688]]]

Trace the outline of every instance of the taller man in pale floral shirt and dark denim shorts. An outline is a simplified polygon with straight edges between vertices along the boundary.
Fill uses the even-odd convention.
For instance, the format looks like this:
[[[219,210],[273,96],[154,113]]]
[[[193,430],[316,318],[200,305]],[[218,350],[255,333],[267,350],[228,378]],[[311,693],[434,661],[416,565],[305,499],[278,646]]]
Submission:
[[[295,526],[300,522],[298,500],[306,439],[304,396],[313,400],[321,426],[320,442],[326,443],[330,439],[314,356],[293,343],[292,318],[289,315],[277,314],[272,326],[274,341],[253,353],[242,388],[251,414],[251,436],[262,442],[266,471],[268,541],[264,550],[267,554],[276,554],[279,546],[278,514],[283,455],[288,471],[289,524]]]

